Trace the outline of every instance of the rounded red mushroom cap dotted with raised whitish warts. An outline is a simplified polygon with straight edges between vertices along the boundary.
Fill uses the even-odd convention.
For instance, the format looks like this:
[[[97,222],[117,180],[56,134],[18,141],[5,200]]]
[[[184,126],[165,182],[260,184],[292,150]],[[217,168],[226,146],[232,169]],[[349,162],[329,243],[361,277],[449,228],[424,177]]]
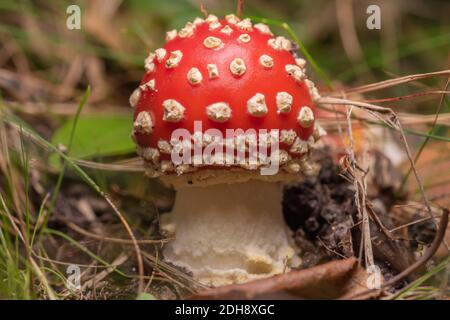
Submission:
[[[280,150],[304,159],[316,140],[310,137],[321,135],[314,124],[318,92],[292,47],[268,26],[234,15],[197,18],[178,33],[169,31],[164,47],[146,59],[147,72],[130,97],[140,154],[169,173],[172,132],[194,133],[194,121],[201,121],[203,132],[215,128],[224,137],[226,129],[278,129]]]

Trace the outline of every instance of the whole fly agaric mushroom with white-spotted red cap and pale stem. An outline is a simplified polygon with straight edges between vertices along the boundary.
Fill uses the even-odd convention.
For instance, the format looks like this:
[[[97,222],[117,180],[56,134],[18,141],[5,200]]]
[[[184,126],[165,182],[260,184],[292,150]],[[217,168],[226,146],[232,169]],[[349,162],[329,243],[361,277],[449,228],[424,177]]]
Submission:
[[[319,94],[306,77],[305,60],[268,26],[234,15],[196,18],[179,32],[169,31],[166,40],[145,60],[147,72],[130,97],[132,137],[148,175],[177,191],[163,225],[176,235],[163,250],[165,260],[210,285],[289,270],[295,252],[283,220],[282,187],[314,173],[310,150],[324,134],[315,123]],[[196,130],[198,122],[203,131]],[[174,138],[179,129],[192,140]],[[253,163],[235,162],[239,150],[249,155],[250,142],[275,142],[258,134],[242,143],[240,133],[217,144],[215,134],[229,129],[278,130],[279,148]],[[213,144],[230,147],[225,158],[231,162],[195,161],[195,151],[204,160]],[[193,163],[175,163],[180,154],[194,154]],[[280,169],[261,175],[268,158]]]

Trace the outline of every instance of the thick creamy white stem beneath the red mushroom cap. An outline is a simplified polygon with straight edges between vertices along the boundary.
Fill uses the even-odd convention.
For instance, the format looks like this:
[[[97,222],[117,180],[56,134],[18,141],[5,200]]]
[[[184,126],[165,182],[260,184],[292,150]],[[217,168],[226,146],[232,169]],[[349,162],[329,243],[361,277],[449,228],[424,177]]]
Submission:
[[[280,183],[182,188],[165,216],[163,229],[176,237],[163,250],[165,260],[203,284],[241,283],[289,271],[295,252],[282,214]]]

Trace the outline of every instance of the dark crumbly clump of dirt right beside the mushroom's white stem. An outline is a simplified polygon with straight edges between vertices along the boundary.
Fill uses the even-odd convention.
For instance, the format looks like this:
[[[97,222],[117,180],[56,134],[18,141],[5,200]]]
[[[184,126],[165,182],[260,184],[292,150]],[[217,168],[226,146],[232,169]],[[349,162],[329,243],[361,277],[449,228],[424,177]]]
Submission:
[[[354,255],[348,238],[356,212],[354,191],[339,176],[331,157],[321,159],[319,175],[286,188],[283,198],[286,223],[295,231],[295,240],[304,252],[305,268],[329,260],[324,244],[346,257]]]

